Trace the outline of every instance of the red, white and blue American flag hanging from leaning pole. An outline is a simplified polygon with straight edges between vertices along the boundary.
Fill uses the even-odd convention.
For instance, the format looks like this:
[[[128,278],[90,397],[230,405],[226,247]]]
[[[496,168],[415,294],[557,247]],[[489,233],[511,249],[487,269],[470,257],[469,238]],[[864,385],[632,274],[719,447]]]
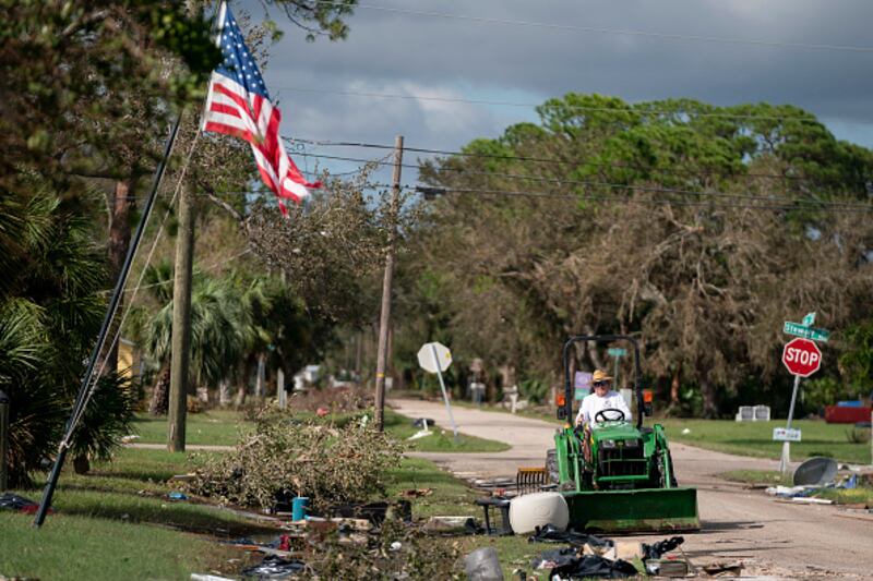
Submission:
[[[218,22],[216,45],[224,60],[210,80],[203,130],[236,135],[251,144],[261,178],[278,196],[279,209],[287,216],[283,199],[299,203],[309,195],[308,187],[321,184],[308,182],[285,152],[279,136],[282,113],[270,100],[261,71],[227,2],[222,2]]]

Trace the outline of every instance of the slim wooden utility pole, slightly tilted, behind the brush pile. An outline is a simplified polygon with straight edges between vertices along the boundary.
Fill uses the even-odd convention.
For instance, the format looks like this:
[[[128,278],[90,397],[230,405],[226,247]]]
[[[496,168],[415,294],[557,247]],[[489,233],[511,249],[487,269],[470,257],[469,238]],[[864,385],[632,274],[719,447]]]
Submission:
[[[388,209],[388,247],[385,253],[385,278],[382,280],[382,314],[379,317],[379,349],[375,356],[375,428],[384,428],[385,361],[387,360],[388,328],[391,328],[391,285],[394,277],[394,243],[397,239],[397,215],[400,204],[400,165],[403,164],[403,135],[394,138],[394,179]]]

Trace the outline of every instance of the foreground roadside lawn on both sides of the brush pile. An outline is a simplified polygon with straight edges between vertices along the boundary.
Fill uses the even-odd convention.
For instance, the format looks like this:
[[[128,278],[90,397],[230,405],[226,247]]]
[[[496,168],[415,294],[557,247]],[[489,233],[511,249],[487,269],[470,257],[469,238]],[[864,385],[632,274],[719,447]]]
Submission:
[[[88,475],[65,471],[52,505],[57,512],[41,529],[33,528],[32,516],[0,512],[0,578],[113,580],[188,579],[192,572],[207,571],[238,574],[243,561],[256,557],[218,541],[277,531],[270,523],[196,499],[169,500],[167,493],[176,488],[166,481],[189,472],[196,458],[124,448],[112,462],[96,462]],[[481,519],[481,509],[474,505],[478,493],[427,460],[403,459],[387,472],[386,485],[387,498],[410,499],[418,521],[434,515]],[[414,489],[429,494],[405,494]],[[17,493],[38,500],[41,489]],[[507,576],[516,566],[512,560],[550,548],[528,546],[521,537],[435,537],[434,542],[458,542],[464,553],[497,543]]]

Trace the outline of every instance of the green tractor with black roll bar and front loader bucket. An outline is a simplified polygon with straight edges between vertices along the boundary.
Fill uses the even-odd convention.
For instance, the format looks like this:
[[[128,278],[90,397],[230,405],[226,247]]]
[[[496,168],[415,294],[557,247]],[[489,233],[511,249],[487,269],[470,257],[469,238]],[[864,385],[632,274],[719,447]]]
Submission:
[[[634,352],[636,423],[621,410],[598,413],[590,428],[573,426],[573,383],[570,353],[582,341],[627,341]],[[570,507],[570,525],[577,531],[643,532],[699,529],[697,491],[677,485],[663,426],[643,426],[651,402],[643,394],[639,347],[625,335],[572,337],[564,344],[564,395],[555,431],[555,449],[547,456],[547,472]],[[630,404],[630,402],[627,402]]]

